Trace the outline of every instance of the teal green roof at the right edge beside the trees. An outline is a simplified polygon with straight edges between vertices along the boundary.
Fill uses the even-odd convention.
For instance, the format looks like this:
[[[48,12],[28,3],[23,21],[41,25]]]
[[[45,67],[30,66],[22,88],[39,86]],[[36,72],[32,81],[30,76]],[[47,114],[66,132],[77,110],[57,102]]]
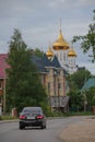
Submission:
[[[82,91],[88,90],[91,87],[95,87],[95,78],[88,79],[82,87]]]

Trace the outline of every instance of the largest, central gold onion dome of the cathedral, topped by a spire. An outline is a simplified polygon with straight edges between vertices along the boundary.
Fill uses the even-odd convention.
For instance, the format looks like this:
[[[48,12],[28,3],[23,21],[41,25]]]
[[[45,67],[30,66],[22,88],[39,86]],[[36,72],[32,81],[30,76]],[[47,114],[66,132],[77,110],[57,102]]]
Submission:
[[[54,43],[52,48],[55,50],[60,50],[60,49],[69,49],[69,44],[66,42],[66,39],[63,38],[62,34],[61,34],[61,29],[60,29],[60,34],[58,39]]]

